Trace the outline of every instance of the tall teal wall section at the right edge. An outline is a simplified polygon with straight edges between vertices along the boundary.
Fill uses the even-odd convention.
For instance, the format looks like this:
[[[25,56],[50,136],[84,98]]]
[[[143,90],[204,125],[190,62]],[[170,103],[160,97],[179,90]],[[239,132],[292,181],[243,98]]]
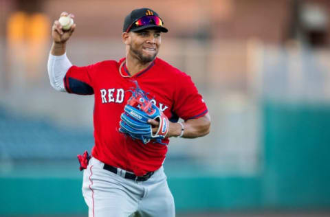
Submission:
[[[330,106],[265,103],[262,200],[267,207],[330,207]]]

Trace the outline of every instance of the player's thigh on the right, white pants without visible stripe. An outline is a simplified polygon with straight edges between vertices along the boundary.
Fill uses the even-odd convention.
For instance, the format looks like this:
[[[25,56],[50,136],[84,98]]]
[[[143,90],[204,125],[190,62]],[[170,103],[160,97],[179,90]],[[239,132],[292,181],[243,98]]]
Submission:
[[[175,203],[166,181],[160,183],[140,203],[139,214],[142,217],[174,217]]]

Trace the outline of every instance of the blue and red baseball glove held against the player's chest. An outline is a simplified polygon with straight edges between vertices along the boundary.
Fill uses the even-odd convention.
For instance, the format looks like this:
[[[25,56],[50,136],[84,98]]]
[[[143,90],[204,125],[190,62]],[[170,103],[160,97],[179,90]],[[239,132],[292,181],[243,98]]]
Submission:
[[[160,109],[151,102],[147,93],[142,91],[135,81],[136,88],[132,90],[132,96],[124,107],[124,113],[120,116],[120,133],[129,135],[133,139],[139,139],[144,144],[151,140],[162,144],[162,139],[168,133],[168,118]],[[153,133],[148,119],[159,122],[157,132]]]

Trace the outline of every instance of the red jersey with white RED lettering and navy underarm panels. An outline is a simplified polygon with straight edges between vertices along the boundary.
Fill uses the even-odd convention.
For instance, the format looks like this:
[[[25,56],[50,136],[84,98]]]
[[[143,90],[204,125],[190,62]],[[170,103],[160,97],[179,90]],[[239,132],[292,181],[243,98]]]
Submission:
[[[154,141],[143,144],[140,140],[119,133],[120,115],[127,100],[128,91],[135,87],[149,93],[154,103],[171,122],[206,115],[208,109],[190,76],[155,58],[149,67],[129,76],[124,61],[106,60],[86,67],[72,66],[64,78],[68,93],[94,94],[94,139],[92,155],[96,159],[134,172],[141,176],[162,166],[167,146]],[[168,144],[168,138],[162,143]]]

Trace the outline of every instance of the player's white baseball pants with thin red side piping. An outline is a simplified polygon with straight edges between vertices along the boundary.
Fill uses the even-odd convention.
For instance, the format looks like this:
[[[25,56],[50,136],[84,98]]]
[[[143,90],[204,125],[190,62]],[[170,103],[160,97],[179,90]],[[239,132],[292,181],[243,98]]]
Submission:
[[[147,181],[134,181],[104,170],[103,166],[92,157],[84,170],[83,196],[89,217],[175,216],[163,167]]]

